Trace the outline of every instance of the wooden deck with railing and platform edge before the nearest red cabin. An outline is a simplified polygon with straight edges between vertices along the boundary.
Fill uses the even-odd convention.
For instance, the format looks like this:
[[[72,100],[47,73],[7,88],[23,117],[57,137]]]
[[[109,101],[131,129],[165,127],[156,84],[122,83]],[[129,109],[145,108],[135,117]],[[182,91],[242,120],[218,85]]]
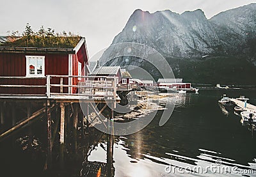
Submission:
[[[27,77],[0,77],[1,79],[28,79]],[[56,102],[120,102],[116,94],[117,86],[115,77],[94,77],[94,76],[68,76],[68,75],[47,75],[46,85],[31,86],[26,84],[0,84],[0,99],[24,101],[54,100]],[[63,79],[75,79],[76,84],[63,84]],[[99,81],[99,80],[104,81]],[[54,83],[52,83],[54,80]],[[56,81],[60,81],[56,84]],[[1,88],[44,88],[45,94],[33,95],[24,93],[6,94],[1,93]],[[55,88],[55,89],[53,89]],[[58,88],[58,89],[56,89]],[[66,88],[66,89],[65,89]],[[66,90],[63,91],[63,90]],[[125,89],[125,88],[124,88]],[[56,91],[58,90],[58,91]],[[68,90],[68,92],[67,92]]]

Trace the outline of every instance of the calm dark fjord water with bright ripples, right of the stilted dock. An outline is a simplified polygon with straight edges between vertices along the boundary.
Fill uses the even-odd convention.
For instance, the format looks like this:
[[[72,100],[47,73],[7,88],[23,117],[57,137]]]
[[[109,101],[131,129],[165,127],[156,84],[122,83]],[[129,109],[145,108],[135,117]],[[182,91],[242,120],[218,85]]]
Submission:
[[[232,106],[220,107],[223,93],[245,95],[256,104],[252,89],[179,96],[163,127],[158,125],[159,111],[140,132],[115,137],[115,176],[256,176],[255,128],[242,125]],[[106,162],[104,138],[88,161]]]

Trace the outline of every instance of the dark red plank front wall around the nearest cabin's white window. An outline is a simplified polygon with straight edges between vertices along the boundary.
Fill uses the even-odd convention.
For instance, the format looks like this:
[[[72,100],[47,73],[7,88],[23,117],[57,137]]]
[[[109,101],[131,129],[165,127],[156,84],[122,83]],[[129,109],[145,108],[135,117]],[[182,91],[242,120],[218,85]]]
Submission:
[[[45,56],[45,75],[68,75],[68,54],[18,54],[0,53],[1,76],[26,76],[26,56]],[[68,79],[64,79],[68,84]],[[51,84],[59,84],[60,79],[52,79]],[[0,79],[0,84],[45,85],[45,79]],[[59,92],[59,88],[51,91]],[[65,88],[64,92],[68,89]],[[46,88],[0,88],[1,93],[15,94],[45,94]]]

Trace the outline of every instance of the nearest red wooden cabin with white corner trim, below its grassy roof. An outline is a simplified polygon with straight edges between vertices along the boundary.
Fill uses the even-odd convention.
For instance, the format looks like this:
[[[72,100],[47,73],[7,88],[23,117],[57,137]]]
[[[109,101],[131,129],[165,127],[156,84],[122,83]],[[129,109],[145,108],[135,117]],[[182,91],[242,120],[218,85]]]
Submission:
[[[84,67],[88,62],[85,38],[77,38],[76,46],[73,48],[19,47],[13,46],[12,43],[10,46],[0,45],[0,85],[31,86],[2,87],[0,94],[45,95],[46,88],[33,86],[45,86],[46,75],[87,75],[88,67]],[[78,78],[63,79],[63,84],[67,85],[74,85],[77,82]],[[51,84],[60,84],[60,79],[52,78]],[[52,87],[51,91],[58,92],[60,87]],[[75,92],[76,88],[63,89],[63,93]]]

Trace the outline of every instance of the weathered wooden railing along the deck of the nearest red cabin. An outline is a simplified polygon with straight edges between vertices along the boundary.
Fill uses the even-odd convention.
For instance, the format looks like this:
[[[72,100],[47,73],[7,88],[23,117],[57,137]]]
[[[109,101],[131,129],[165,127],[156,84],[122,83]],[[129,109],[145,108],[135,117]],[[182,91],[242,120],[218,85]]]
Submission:
[[[1,80],[2,79],[2,80]],[[5,79],[4,82],[3,79]],[[6,80],[9,79],[9,80]],[[13,82],[22,79],[31,79],[29,84],[16,84]],[[33,85],[31,83],[42,81],[42,85]],[[103,81],[98,81],[103,80]],[[26,80],[27,81],[27,80]],[[32,82],[33,81],[33,82]],[[46,84],[45,84],[46,82]],[[4,84],[2,84],[4,83]],[[15,83],[15,84],[13,84]],[[37,95],[44,95],[47,98],[56,98],[56,96],[84,96],[84,98],[116,98],[116,84],[115,77],[103,76],[74,76],[74,75],[47,75],[46,77],[0,77],[0,95],[1,88],[20,88],[20,93],[10,90],[8,95],[33,95],[32,93],[24,94],[23,88],[44,88],[42,93]],[[6,92],[6,91],[5,91]],[[19,92],[19,91],[18,91]],[[12,94],[15,93],[15,94]],[[6,93],[5,93],[6,94]]]

